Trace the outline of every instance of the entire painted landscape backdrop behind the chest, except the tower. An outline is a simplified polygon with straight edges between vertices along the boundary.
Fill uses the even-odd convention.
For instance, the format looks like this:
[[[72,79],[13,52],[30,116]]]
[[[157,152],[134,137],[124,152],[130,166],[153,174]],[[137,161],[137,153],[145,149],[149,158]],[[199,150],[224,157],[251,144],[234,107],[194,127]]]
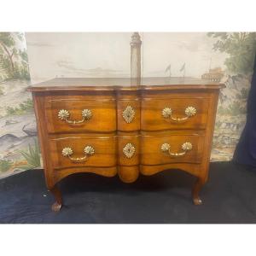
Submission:
[[[0,32],[0,177],[42,166],[28,84],[130,77],[129,32]],[[140,32],[143,77],[218,79],[212,161],[230,160],[246,121],[255,32]]]

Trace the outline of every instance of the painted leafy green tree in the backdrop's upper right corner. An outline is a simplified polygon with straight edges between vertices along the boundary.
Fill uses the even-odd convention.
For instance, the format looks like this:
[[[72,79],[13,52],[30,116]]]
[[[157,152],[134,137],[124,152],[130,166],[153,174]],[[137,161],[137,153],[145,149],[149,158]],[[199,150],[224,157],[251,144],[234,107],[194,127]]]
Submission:
[[[208,36],[217,38],[213,49],[227,53],[224,61],[228,72],[250,75],[256,51],[256,32],[209,32]]]

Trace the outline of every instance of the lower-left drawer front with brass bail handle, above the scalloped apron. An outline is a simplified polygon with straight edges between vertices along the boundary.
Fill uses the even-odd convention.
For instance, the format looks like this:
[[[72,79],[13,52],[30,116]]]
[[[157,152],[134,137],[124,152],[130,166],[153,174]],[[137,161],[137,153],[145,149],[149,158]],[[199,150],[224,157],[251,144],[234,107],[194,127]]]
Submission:
[[[116,166],[116,137],[58,137],[50,140],[55,169]]]

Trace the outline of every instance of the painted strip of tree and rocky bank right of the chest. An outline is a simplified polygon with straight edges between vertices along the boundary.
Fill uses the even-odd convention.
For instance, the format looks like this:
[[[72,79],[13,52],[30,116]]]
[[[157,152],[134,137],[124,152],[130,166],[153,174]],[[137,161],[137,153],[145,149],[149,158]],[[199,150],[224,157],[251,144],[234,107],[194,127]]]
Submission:
[[[231,160],[246,122],[247,95],[253,75],[255,32],[211,32],[214,51],[226,54],[226,88],[221,91],[213,137],[212,160]]]

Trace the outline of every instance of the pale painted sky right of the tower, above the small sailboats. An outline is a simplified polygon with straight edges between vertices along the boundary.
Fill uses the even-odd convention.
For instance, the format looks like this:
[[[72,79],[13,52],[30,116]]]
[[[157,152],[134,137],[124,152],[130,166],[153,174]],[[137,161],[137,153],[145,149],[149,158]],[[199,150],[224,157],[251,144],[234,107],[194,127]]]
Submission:
[[[143,76],[166,76],[168,65],[172,76],[186,63],[186,76],[201,77],[212,58],[212,67],[224,69],[225,56],[212,50],[214,39],[206,32],[145,32],[143,37]]]

